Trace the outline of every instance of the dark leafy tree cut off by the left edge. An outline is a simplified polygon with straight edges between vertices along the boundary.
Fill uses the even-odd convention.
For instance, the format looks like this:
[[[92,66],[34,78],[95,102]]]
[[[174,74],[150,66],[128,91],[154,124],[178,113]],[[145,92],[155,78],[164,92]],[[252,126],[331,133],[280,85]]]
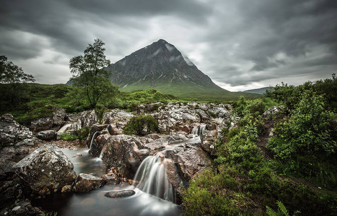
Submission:
[[[8,61],[6,56],[0,56],[0,83],[10,85],[12,106],[18,94],[18,86],[26,82],[35,82],[35,79],[31,74],[24,73],[23,69],[12,61]]]

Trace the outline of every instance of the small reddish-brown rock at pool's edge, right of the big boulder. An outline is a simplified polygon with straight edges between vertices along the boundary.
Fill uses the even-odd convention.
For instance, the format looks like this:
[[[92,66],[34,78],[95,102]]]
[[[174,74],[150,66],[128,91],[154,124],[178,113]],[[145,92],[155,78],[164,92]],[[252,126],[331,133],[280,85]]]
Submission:
[[[93,189],[99,188],[105,184],[103,178],[93,175],[80,173],[77,176],[73,190],[76,192],[89,192]]]

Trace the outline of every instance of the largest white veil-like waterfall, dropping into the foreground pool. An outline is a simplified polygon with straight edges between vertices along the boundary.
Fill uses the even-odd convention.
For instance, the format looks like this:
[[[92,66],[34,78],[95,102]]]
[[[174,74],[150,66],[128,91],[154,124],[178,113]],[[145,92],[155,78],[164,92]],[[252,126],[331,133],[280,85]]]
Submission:
[[[175,202],[172,184],[167,179],[165,159],[158,155],[146,157],[140,164],[135,175],[140,190]]]

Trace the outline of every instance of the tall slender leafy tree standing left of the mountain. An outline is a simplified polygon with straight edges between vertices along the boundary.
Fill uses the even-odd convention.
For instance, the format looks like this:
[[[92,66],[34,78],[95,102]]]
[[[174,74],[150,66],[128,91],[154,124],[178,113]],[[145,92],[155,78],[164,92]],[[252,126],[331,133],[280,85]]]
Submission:
[[[104,55],[104,45],[102,40],[96,39],[94,44],[88,45],[84,55],[75,56],[69,61],[72,80],[86,95],[91,109],[104,95],[114,95],[117,91],[109,79],[112,73],[103,69],[110,64]]]

